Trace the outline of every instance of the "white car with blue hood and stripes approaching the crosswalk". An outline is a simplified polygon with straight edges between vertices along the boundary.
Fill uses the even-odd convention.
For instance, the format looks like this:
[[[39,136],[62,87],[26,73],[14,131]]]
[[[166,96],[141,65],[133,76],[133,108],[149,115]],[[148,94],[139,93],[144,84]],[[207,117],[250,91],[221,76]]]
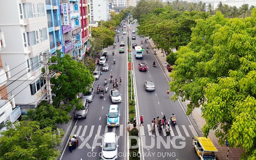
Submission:
[[[110,105],[107,116],[107,126],[119,126],[120,109],[118,105]]]

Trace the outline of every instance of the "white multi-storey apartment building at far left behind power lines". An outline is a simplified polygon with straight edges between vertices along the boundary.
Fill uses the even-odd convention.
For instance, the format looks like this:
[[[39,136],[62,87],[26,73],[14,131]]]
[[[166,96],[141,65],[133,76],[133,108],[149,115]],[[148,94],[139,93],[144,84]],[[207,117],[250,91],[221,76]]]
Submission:
[[[51,48],[45,0],[1,1],[0,11],[6,44],[1,58],[4,64],[8,63],[12,75],[6,89],[9,97],[11,93],[15,95],[15,106],[20,105],[21,112],[27,112],[36,108],[47,92],[40,63],[40,54],[49,54]]]

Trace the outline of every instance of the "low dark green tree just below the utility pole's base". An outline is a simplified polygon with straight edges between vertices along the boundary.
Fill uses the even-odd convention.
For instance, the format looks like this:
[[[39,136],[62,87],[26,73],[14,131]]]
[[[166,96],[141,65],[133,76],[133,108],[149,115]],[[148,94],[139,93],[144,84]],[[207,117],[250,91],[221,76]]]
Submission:
[[[40,129],[46,127],[56,129],[55,124],[68,123],[70,120],[67,111],[54,108],[54,106],[45,102],[41,103],[36,109],[29,109],[27,114],[28,115],[25,116],[24,119],[38,121]]]

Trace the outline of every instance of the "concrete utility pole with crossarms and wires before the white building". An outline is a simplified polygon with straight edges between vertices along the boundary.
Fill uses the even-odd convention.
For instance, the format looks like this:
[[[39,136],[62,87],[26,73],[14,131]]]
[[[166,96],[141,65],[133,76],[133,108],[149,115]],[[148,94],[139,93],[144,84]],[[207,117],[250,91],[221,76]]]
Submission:
[[[42,100],[46,100],[47,103],[52,104],[52,96],[54,96],[55,94],[52,94],[52,89],[51,89],[51,84],[50,80],[53,76],[56,75],[56,73],[49,73],[49,65],[56,65],[58,64],[58,62],[55,63],[48,63],[48,58],[50,56],[56,56],[56,54],[50,54],[50,53],[40,53],[41,56],[43,56],[43,63],[44,64],[44,70],[45,73],[42,75],[43,78],[45,79],[45,85],[46,85],[46,97],[43,98]],[[60,73],[57,74],[57,76],[60,76]]]

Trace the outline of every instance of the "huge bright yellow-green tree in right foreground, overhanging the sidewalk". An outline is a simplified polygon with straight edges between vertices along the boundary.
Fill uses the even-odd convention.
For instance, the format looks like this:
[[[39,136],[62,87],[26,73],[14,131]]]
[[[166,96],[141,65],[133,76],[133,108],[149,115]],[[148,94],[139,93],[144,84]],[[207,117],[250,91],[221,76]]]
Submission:
[[[216,130],[220,144],[228,140],[230,147],[244,149],[242,160],[256,153],[255,26],[255,9],[244,19],[225,19],[217,12],[197,20],[170,74],[172,99],[190,100],[187,114],[202,105],[204,136]]]

